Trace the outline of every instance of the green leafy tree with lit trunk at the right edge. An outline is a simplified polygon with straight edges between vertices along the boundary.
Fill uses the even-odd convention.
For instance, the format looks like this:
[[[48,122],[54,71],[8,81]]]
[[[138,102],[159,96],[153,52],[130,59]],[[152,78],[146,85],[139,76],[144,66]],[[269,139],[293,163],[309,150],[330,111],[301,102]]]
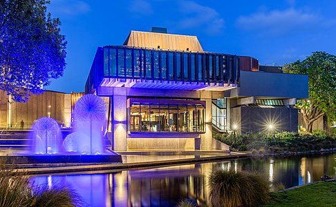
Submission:
[[[285,64],[285,72],[308,75],[308,99],[299,100],[297,108],[303,114],[306,131],[312,132],[314,121],[336,110],[336,56],[312,52],[303,61]]]

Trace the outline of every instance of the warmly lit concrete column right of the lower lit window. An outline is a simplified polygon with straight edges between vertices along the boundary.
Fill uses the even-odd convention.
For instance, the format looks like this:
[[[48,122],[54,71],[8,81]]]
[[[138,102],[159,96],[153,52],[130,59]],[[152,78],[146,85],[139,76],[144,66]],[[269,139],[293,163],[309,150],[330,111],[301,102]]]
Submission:
[[[205,134],[200,138],[200,150],[212,150],[212,92],[200,91],[200,100],[205,101]]]

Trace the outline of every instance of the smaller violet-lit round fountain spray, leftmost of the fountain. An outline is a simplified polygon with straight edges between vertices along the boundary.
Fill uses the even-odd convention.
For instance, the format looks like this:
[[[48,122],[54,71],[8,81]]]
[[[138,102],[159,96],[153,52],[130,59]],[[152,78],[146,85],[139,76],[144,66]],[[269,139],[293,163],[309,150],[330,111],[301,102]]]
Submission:
[[[38,119],[32,126],[32,152],[35,154],[55,154],[60,152],[62,135],[57,122],[50,117]]]

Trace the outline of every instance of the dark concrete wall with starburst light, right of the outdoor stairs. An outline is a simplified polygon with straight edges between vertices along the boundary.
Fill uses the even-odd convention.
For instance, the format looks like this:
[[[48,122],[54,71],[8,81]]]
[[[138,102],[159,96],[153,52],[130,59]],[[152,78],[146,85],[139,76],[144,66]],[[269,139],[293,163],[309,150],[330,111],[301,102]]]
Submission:
[[[238,107],[231,109],[231,121],[236,121],[238,131],[272,132],[297,131],[298,112],[295,108],[252,108]]]

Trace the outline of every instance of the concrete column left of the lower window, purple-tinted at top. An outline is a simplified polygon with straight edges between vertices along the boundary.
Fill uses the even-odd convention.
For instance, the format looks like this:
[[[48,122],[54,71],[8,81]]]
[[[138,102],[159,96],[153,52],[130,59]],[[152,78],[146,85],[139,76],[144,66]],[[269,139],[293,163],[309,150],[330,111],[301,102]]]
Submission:
[[[127,99],[124,95],[113,95],[112,97],[112,149],[115,151],[127,150]]]

